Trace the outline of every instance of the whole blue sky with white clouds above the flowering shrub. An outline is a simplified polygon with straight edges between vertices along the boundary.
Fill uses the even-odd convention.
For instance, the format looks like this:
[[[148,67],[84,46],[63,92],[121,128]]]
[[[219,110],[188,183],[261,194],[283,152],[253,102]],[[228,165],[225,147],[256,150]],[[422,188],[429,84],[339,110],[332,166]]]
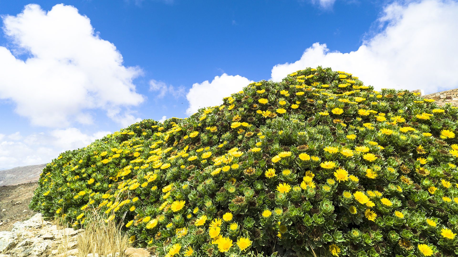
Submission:
[[[143,118],[186,118],[252,80],[309,66],[345,70],[376,88],[456,88],[457,6],[4,1],[0,168],[48,162]]]

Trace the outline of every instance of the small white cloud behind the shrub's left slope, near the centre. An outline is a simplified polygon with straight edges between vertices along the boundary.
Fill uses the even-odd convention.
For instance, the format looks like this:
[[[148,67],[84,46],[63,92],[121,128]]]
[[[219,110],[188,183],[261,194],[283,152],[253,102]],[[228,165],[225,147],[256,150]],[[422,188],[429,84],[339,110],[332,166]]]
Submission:
[[[251,82],[253,81],[240,75],[232,76],[224,73],[216,76],[212,82],[205,80],[202,83],[194,83],[186,95],[189,101],[186,113],[191,115],[200,108],[220,105],[223,103],[223,97],[242,90]]]

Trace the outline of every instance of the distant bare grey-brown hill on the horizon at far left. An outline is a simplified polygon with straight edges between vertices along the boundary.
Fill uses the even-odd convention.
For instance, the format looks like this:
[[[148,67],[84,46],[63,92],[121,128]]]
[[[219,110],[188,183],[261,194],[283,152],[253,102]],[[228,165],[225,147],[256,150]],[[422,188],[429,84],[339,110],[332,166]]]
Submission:
[[[36,182],[46,164],[16,167],[0,170],[0,186]]]

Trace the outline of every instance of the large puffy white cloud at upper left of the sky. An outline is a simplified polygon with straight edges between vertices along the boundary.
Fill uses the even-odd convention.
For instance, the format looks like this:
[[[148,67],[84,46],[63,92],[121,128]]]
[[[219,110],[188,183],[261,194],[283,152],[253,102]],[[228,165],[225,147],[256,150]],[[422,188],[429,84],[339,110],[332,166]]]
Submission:
[[[75,7],[59,4],[45,12],[31,4],[2,18],[11,42],[0,47],[0,99],[14,102],[34,125],[88,124],[91,109],[116,110],[113,118],[144,100],[132,83],[142,70],[125,67],[116,47]]]

